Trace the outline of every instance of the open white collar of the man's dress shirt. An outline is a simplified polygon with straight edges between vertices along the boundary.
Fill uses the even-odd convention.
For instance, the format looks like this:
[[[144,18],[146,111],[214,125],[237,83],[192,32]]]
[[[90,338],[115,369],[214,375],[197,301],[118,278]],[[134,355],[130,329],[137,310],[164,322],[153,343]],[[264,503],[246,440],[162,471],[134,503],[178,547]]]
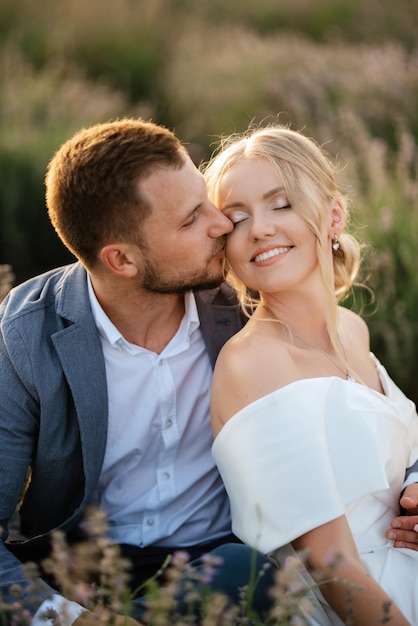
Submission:
[[[89,274],[87,274],[87,287],[93,318],[100,337],[107,341],[112,347],[124,347],[129,351],[131,351],[130,348],[132,347],[135,350],[142,350],[143,348],[140,348],[139,346],[134,346],[133,344],[126,341],[120,331],[110,321],[96,298],[96,294],[94,293]],[[184,307],[185,312],[178,331],[173,339],[170,341],[168,346],[164,348],[163,352],[167,350],[167,348],[172,344],[173,341],[175,341],[176,343],[183,341],[188,343],[192,332],[200,326],[196,300],[192,291],[188,291],[184,295]]]

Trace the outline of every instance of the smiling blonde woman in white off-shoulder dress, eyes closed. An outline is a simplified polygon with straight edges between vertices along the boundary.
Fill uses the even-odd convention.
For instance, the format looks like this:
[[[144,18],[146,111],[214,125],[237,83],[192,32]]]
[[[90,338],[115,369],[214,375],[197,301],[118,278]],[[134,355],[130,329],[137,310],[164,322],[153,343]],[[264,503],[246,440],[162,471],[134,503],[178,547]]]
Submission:
[[[333,624],[348,611],[380,624],[389,604],[392,623],[418,624],[418,554],[384,538],[418,419],[370,354],[365,322],[338,306],[360,252],[334,174],[284,127],[232,139],[206,169],[234,223],[227,278],[254,309],[215,368],[213,454],[236,535],[268,553],[307,549],[308,569],[348,581],[318,592]]]

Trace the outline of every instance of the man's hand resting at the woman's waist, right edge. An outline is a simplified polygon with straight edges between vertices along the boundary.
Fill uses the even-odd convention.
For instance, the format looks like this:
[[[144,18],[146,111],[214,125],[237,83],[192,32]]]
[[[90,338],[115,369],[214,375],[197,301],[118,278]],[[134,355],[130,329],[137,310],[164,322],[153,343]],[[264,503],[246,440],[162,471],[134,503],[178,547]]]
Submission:
[[[400,500],[405,515],[395,517],[386,531],[395,548],[410,548],[418,552],[418,484],[408,485]]]

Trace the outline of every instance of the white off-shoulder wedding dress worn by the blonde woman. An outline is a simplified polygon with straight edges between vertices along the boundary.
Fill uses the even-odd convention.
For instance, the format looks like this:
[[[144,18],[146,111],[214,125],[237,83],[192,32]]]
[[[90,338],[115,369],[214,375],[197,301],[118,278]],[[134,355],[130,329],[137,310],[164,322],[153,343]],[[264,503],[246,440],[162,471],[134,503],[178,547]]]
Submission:
[[[242,541],[274,554],[345,514],[364,566],[418,626],[418,552],[384,535],[418,458],[418,417],[373,358],[385,395],[338,377],[296,381],[234,415],[213,455]],[[325,611],[329,622],[310,623],[342,623]]]

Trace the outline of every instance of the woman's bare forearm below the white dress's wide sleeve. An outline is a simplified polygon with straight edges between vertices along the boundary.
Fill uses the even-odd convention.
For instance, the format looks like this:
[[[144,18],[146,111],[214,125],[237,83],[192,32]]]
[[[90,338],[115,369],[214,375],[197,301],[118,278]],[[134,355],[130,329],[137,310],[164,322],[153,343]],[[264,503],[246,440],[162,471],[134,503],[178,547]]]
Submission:
[[[363,567],[345,516],[309,531],[292,545],[295,550],[308,551],[306,565],[311,572],[320,572],[326,580],[338,578],[338,581],[321,584],[320,590],[343,621],[349,616],[355,626],[382,624],[385,606],[390,605],[388,616],[392,623],[410,626]]]

